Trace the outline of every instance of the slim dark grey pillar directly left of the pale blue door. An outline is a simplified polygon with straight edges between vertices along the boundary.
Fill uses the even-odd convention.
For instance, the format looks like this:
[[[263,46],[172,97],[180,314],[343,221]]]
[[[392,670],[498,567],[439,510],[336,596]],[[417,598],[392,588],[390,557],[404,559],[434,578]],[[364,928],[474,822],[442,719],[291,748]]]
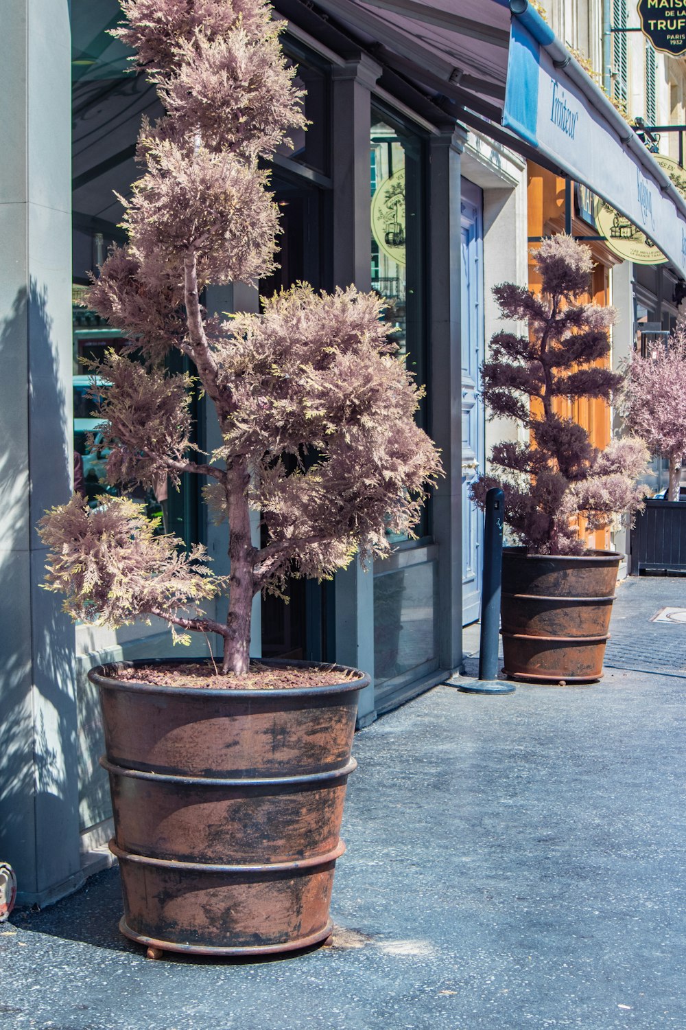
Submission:
[[[430,140],[431,430],[445,478],[433,499],[438,559],[438,657],[462,665],[462,352],[460,154],[465,131],[450,126]]]

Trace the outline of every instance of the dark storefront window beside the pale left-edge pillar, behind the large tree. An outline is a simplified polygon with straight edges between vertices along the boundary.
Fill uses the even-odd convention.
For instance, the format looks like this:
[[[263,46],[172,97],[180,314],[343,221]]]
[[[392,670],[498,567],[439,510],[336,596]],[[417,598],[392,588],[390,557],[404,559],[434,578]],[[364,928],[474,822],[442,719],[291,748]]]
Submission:
[[[154,121],[161,107],[154,88],[129,70],[131,52],[108,33],[121,22],[118,0],[72,0],[72,207],[73,207],[73,392],[74,450],[80,455],[83,487],[91,505],[102,493],[120,493],[106,479],[107,450],[100,445],[97,399],[87,397],[87,365],[108,348],[121,350],[122,333],[80,301],[88,276],[102,265],[113,243],[125,242],[119,228],[127,197],[140,174],[135,162],[141,118]],[[180,359],[180,355],[176,355]],[[107,383],[102,386],[106,396]],[[78,459],[77,459],[78,460]],[[174,531],[190,544],[197,540],[197,477],[183,477],[168,497],[167,483],[154,491],[127,492],[144,504],[159,531]]]

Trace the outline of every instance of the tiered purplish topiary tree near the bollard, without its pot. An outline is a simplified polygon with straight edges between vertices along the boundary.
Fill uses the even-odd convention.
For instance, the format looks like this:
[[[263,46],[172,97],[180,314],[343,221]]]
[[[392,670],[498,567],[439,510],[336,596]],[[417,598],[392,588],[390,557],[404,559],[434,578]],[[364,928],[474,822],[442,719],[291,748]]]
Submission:
[[[497,444],[498,473],[478,479],[472,496],[483,507],[489,488],[502,487],[505,522],[520,544],[538,554],[580,554],[586,545],[574,516],[592,530],[636,510],[647,451],[630,438],[599,450],[581,425],[553,410],[556,398],[607,401],[619,389],[621,375],[594,364],[610,350],[614,310],[578,302],[592,271],[588,247],[554,236],[535,261],[540,296],[513,283],[494,289],[503,317],[526,321],[529,335],[496,333],[481,369],[492,413],[523,425],[528,441]]]

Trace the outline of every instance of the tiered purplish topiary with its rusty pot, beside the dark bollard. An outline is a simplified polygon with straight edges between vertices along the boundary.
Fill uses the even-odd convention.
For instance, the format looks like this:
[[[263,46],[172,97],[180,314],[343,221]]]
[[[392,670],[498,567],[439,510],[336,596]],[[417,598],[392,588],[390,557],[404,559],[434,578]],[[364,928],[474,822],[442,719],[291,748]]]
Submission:
[[[477,480],[476,504],[492,486],[517,546],[503,552],[501,624],[505,672],[513,679],[600,679],[621,555],[589,550],[580,527],[601,529],[640,506],[636,481],[647,452],[638,439],[593,447],[586,431],[555,411],[557,399],[609,400],[622,377],[600,367],[610,349],[612,308],[579,303],[589,285],[588,247],[559,235],[535,252],[541,294],[504,283],[494,290],[503,317],[528,336],[497,333],[481,370],[494,415],[526,439],[493,448],[497,474]]]

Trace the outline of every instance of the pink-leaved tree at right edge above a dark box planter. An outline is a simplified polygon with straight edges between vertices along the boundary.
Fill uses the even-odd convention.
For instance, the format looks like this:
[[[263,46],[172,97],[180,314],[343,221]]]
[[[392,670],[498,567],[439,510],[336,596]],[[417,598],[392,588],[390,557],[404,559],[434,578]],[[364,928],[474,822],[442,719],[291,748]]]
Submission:
[[[667,458],[667,500],[679,500],[686,452],[686,325],[681,321],[666,347],[647,357],[634,354],[622,398],[626,426],[643,437],[652,454]]]

